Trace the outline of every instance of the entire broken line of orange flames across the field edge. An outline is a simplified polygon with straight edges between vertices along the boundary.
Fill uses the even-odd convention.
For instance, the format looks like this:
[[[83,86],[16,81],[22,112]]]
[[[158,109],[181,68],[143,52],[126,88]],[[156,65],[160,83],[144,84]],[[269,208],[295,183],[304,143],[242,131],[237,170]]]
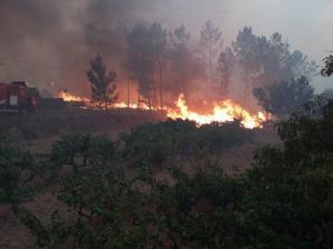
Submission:
[[[97,103],[92,102],[90,99],[80,98],[73,96],[68,91],[59,92],[59,98],[62,98],[67,102],[82,102],[83,108],[95,108]],[[248,129],[254,129],[262,127],[262,123],[266,121],[268,117],[263,112],[258,112],[256,114],[251,114],[249,111],[243,109],[238,103],[234,103],[232,100],[223,100],[214,103],[214,108],[209,114],[201,114],[195,111],[189,110],[183,94],[179,96],[178,101],[175,102],[176,108],[163,108],[167,111],[167,116],[171,119],[188,119],[193,120],[198,124],[206,124],[211,122],[231,122],[236,119],[241,120],[241,123]],[[109,108],[130,108],[130,109],[143,109],[150,110],[148,104],[141,103],[125,103],[118,102],[109,106]]]

